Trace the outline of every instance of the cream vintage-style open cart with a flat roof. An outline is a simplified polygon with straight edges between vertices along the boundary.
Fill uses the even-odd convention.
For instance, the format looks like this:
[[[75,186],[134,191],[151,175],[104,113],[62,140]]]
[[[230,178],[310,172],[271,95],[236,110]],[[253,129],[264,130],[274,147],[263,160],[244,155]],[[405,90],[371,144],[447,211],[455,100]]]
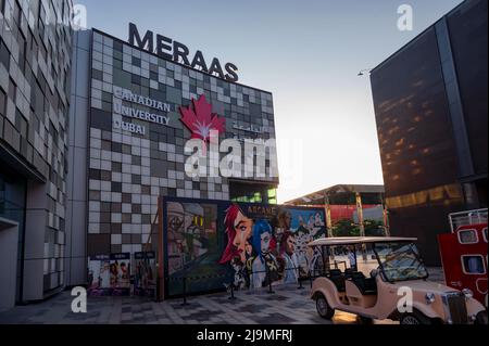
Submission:
[[[310,243],[323,256],[311,291],[318,315],[331,319],[335,310],[341,310],[358,315],[363,322],[487,324],[487,311],[472,292],[427,280],[415,241],[367,236]]]

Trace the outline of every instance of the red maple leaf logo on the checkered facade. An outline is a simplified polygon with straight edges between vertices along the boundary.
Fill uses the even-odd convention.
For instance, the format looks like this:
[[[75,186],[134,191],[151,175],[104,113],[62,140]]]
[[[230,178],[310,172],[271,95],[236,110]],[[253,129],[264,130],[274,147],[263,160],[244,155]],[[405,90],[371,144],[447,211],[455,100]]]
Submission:
[[[205,95],[200,95],[199,100],[192,99],[191,106],[180,107],[181,123],[192,132],[192,139],[209,141],[211,130],[224,132],[226,129],[226,119],[212,113],[212,106],[205,100]]]

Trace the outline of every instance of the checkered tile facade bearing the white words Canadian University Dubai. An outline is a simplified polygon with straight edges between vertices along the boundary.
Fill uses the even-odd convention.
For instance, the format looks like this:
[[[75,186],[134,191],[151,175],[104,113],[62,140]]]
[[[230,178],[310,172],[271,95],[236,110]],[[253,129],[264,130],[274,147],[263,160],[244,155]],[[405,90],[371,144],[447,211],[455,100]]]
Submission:
[[[146,244],[154,248],[160,196],[274,202],[278,177],[268,175],[277,167],[274,146],[265,151],[263,162],[256,161],[262,165],[249,179],[209,177],[220,164],[209,157],[200,158],[208,164],[208,175],[192,178],[186,174],[191,153],[185,152],[185,144],[193,133],[183,120],[183,110],[198,113],[199,104],[209,104],[225,120],[221,140],[275,139],[269,92],[162,59],[99,30],[77,37],[77,74],[88,66],[89,77],[74,86],[72,123],[79,127],[72,131],[71,235],[78,239],[72,242],[72,264],[85,245],[87,256],[134,254]],[[244,163],[244,153],[239,157]],[[266,171],[266,177],[256,178],[258,171]],[[86,261],[75,267],[72,275],[85,273]]]

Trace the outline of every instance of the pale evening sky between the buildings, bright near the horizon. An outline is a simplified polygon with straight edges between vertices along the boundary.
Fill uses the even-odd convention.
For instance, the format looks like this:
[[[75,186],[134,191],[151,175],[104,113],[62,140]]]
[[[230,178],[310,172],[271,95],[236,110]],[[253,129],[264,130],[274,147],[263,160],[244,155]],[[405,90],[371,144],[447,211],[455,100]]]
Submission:
[[[74,0],[87,25],[128,38],[128,23],[239,68],[273,93],[283,203],[335,184],[383,184],[368,75],[461,0]],[[398,29],[398,8],[413,30]]]

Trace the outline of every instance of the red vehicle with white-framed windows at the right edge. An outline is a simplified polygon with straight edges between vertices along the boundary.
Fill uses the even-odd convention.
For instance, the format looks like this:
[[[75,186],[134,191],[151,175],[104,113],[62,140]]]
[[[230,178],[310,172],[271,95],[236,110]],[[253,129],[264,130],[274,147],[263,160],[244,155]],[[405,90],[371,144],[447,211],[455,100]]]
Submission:
[[[472,291],[486,309],[487,212],[486,208],[450,214],[452,232],[438,235],[447,285]]]

